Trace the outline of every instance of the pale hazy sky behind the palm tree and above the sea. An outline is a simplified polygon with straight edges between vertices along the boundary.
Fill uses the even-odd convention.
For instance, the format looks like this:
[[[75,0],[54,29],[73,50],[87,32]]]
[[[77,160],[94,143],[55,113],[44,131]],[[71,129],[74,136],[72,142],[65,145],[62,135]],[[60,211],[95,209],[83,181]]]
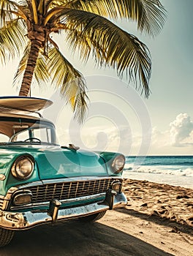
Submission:
[[[193,153],[193,62],[192,0],[161,0],[167,20],[158,36],[136,31],[128,21],[118,26],[135,34],[151,51],[151,95],[145,99],[113,69],[97,69],[66,53],[61,37],[58,45],[86,78],[90,104],[86,120],[77,124],[71,111],[53,89],[32,89],[33,97],[53,100],[43,111],[55,124],[62,145],[119,151],[126,155],[192,155]],[[17,95],[12,80],[18,60],[0,67],[1,96]]]

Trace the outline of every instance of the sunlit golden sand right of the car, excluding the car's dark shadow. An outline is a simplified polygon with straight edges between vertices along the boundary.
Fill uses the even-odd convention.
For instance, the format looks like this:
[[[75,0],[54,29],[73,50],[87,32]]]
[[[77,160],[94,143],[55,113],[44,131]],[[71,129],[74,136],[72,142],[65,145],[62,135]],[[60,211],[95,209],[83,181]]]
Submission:
[[[124,192],[127,206],[100,222],[162,250],[136,255],[193,255],[193,189],[126,179]]]

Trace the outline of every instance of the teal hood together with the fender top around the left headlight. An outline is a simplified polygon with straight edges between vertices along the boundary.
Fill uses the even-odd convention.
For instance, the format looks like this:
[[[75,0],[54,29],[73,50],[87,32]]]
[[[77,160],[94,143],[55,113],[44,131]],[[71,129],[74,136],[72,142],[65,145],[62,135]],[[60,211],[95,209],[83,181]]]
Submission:
[[[75,176],[107,176],[104,159],[94,152],[60,146],[5,146],[0,148],[1,173],[23,154],[34,157],[35,171],[41,180]],[[37,176],[36,176],[37,177]],[[32,178],[32,177],[31,177]],[[27,182],[31,181],[30,179]]]

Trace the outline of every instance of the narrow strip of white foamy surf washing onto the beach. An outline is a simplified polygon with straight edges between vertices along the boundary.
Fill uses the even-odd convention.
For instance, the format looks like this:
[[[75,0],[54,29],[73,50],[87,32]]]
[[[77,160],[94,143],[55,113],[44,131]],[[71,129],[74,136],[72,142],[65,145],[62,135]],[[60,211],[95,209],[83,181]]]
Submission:
[[[156,173],[156,174],[167,174],[167,175],[173,175],[173,176],[187,176],[187,177],[193,177],[193,168],[191,167],[184,167],[184,168],[178,168],[176,166],[170,166],[170,168],[167,167],[160,167],[160,166],[136,166],[132,164],[126,164],[124,167],[125,172],[135,172],[135,173]]]

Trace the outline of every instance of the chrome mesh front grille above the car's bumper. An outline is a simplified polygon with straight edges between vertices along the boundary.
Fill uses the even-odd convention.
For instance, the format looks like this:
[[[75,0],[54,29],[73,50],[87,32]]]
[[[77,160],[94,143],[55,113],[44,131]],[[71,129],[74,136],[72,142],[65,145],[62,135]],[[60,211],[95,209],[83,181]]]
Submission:
[[[42,203],[50,201],[52,198],[67,200],[70,198],[105,193],[113,180],[113,178],[104,178],[88,181],[69,181],[38,185],[29,187],[28,189],[32,192],[31,203]]]

